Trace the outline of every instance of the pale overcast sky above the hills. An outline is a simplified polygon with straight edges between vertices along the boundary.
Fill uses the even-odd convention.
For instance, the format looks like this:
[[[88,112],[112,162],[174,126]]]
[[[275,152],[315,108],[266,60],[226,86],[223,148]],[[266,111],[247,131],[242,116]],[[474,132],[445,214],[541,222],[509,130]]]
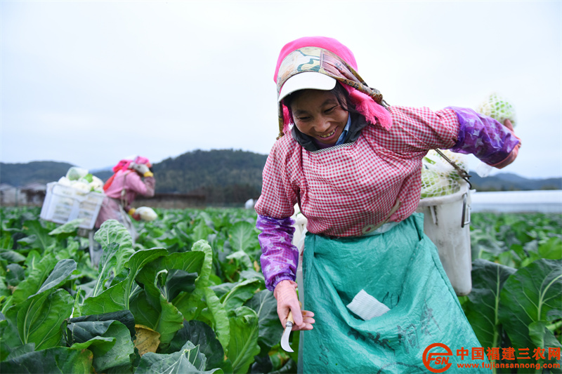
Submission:
[[[561,1],[4,1],[0,161],[267,154],[284,44],[332,36],[390,105],[516,108],[518,159],[562,176]]]

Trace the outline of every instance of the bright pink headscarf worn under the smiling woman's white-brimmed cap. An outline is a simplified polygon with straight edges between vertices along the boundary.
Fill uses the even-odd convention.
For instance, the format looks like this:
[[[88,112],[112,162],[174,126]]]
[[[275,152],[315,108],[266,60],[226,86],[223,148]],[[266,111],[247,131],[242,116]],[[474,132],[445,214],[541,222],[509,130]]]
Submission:
[[[335,53],[339,58],[353,67],[353,69],[357,70],[357,62],[355,61],[355,56],[349,48],[344,46],[344,44],[341,44],[336,39],[328,38],[326,36],[306,36],[285,44],[285,46],[281,49],[279,58],[277,58],[275,76],[273,76],[273,80],[275,81],[275,83],[277,83],[277,76],[279,74],[279,68],[283,59],[285,59],[287,55],[289,55],[289,53],[292,53],[292,51],[303,47],[323,48],[327,51]],[[360,114],[365,116],[367,122],[375,124],[378,120],[379,124],[383,128],[387,130],[391,128],[392,118],[388,110],[386,110],[382,105],[379,105],[365,93],[362,93],[351,86],[347,86],[346,84],[342,84],[342,86],[344,86],[346,91],[348,91],[351,102],[353,102],[353,104],[355,105],[355,109],[357,109]],[[282,110],[283,133],[287,133],[287,131],[289,131],[289,124],[292,123],[292,119],[289,116],[289,109],[285,107],[285,105],[283,105]]]

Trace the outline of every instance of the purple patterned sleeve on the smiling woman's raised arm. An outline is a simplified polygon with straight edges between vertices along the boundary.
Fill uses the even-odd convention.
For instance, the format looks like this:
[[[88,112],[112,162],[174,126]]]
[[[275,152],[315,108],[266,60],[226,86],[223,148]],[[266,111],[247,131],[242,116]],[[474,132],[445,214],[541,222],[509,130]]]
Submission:
[[[452,152],[474,154],[494,166],[507,159],[520,142],[509,128],[489,116],[469,108],[449,109],[455,111],[460,123],[457,144],[450,149]]]

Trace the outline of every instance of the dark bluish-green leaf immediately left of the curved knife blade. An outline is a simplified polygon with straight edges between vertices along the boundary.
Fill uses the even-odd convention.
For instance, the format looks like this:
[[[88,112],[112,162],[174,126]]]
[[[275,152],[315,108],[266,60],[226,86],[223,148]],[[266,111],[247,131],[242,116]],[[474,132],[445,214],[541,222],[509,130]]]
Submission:
[[[259,342],[266,347],[274,347],[281,341],[283,328],[277,316],[277,300],[270,290],[256,293],[245,306],[254,309],[258,314]]]

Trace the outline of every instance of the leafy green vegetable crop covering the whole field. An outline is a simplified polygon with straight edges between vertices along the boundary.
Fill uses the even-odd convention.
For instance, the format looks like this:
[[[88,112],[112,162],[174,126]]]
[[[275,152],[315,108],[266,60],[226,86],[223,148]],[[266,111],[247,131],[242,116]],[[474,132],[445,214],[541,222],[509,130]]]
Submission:
[[[134,244],[105,222],[94,268],[78,221],[0,208],[1,373],[296,373],[299,334],[282,351],[256,213],[157,213]],[[562,347],[561,216],[473,213],[471,243],[459,301],[482,347]]]

